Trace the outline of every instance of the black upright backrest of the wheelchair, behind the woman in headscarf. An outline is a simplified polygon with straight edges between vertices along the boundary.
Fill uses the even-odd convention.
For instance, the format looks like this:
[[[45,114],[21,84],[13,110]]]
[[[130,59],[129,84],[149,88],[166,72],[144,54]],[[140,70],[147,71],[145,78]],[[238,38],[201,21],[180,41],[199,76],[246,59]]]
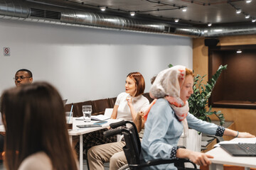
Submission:
[[[128,164],[139,164],[140,153],[142,149],[139,140],[139,134],[134,123],[126,131],[122,132],[126,145],[123,147],[125,157],[127,157]]]

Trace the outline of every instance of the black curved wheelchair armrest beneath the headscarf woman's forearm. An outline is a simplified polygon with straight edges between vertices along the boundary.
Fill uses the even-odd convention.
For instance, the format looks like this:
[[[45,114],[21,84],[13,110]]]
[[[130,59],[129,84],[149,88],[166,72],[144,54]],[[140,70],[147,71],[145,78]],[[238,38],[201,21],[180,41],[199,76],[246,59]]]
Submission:
[[[194,164],[193,162],[191,162],[189,159],[154,159],[154,160],[150,160],[148,162],[142,163],[142,164],[129,164],[130,167],[133,168],[142,168],[142,167],[146,167],[146,166],[155,166],[155,165],[159,165],[159,164],[173,164],[173,163],[191,163],[194,166],[194,169],[196,169],[196,164]]]

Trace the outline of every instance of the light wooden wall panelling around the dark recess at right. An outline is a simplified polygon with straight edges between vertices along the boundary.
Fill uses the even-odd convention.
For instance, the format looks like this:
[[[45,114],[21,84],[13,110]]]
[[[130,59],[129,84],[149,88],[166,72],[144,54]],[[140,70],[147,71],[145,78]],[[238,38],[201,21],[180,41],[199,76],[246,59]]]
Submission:
[[[218,45],[250,45],[256,44],[256,35],[236,35],[218,38]],[[208,74],[208,47],[204,45],[204,38],[193,39],[193,70],[195,74]],[[208,79],[208,77],[206,78]],[[256,89],[248,89],[256,90]],[[235,108],[213,108],[213,111],[224,113],[225,120],[235,122],[235,130],[250,132],[256,135],[256,110]],[[212,120],[218,120],[214,115]]]

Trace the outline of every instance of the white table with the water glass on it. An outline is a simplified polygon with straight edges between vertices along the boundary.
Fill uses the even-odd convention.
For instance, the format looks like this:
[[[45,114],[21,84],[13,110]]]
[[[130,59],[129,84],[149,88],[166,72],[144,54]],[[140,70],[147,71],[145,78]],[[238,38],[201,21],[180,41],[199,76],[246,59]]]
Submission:
[[[94,131],[97,131],[97,130],[101,130],[101,129],[104,129],[104,128],[108,128],[110,127],[110,124],[111,123],[117,123],[119,121],[122,121],[122,120],[117,120],[117,119],[108,119],[107,120],[107,123],[103,124],[102,127],[97,127],[97,128],[78,128],[76,125],[90,125],[90,124],[93,124],[97,121],[95,120],[92,120],[90,123],[85,123],[83,120],[76,120],[78,118],[73,118],[73,130],[69,130],[68,131],[68,135],[70,136],[70,142],[72,144],[72,136],[77,136],[79,135],[79,144],[80,144],[80,151],[79,151],[79,155],[80,155],[80,159],[79,159],[79,166],[80,166],[80,170],[82,170],[82,159],[83,159],[83,155],[82,155],[82,151],[83,151],[83,148],[82,148],[82,135],[84,135],[85,133],[89,133],[89,132],[94,132]],[[79,118],[80,119],[80,118]],[[0,132],[5,132],[5,129],[4,129],[4,125],[0,125]]]

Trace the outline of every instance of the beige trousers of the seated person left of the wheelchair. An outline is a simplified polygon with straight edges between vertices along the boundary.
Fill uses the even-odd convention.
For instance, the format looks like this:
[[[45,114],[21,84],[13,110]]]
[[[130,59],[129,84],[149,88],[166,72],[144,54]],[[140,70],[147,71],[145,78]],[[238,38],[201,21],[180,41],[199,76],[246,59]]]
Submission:
[[[91,147],[87,152],[90,170],[104,170],[104,163],[110,162],[110,170],[117,170],[127,164],[122,147],[125,142],[113,142]]]

